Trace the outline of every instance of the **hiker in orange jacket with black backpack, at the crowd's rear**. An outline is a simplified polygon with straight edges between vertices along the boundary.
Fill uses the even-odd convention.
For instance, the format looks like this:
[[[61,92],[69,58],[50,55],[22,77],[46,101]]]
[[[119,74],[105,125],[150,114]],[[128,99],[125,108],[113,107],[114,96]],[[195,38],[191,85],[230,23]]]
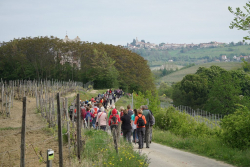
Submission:
[[[134,124],[137,125],[137,134],[139,138],[139,149],[143,148],[144,144],[144,135],[145,135],[145,125],[147,124],[146,118],[142,115],[142,110],[139,109],[138,115],[135,117]]]

